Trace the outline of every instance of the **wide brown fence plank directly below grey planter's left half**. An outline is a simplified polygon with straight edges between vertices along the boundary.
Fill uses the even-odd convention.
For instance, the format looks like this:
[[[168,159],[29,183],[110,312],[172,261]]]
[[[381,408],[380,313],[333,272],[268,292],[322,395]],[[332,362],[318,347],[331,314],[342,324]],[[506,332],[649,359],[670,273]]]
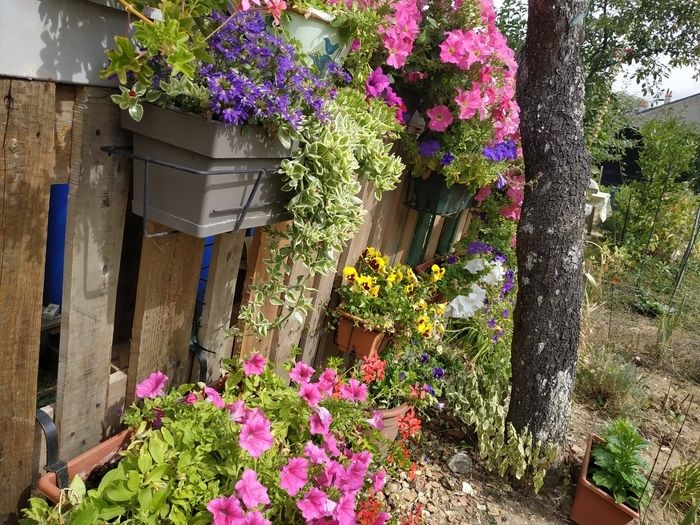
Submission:
[[[149,223],[149,232],[163,230]],[[155,370],[165,373],[170,385],[189,380],[189,342],[203,250],[202,239],[184,233],[143,239],[127,405],[134,398],[136,384]]]

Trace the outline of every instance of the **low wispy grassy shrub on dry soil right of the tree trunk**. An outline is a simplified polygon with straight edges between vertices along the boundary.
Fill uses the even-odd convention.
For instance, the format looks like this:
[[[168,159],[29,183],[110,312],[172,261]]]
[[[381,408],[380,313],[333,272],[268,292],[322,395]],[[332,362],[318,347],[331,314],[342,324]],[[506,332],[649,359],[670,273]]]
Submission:
[[[584,354],[576,373],[576,397],[611,417],[638,417],[646,403],[637,367],[609,348]]]

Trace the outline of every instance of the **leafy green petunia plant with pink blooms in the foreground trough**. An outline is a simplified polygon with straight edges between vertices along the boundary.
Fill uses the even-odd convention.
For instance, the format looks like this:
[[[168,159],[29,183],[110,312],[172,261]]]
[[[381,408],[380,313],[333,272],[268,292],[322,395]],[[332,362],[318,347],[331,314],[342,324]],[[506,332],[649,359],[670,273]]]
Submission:
[[[384,470],[384,458],[396,451],[368,422],[372,410],[359,395],[366,387],[356,384],[350,399],[343,394],[347,380],[335,370],[309,381],[314,370],[292,366],[293,361],[287,364],[294,381],[289,386],[259,355],[224,365],[220,393],[201,383],[186,384],[167,393],[149,392],[142,404],[132,405],[124,417],[133,429],[131,442],[99,486],[86,491],[73,481],[66,494],[72,507],[49,507],[32,499],[23,523],[204,525],[212,522],[210,502],[238,496],[243,503],[236,504],[245,504],[246,512],[257,510],[269,520],[259,523],[301,525],[308,521],[297,503],[309,491],[320,487],[334,501],[347,493],[343,485],[318,481],[317,475],[331,465],[338,476],[350,464],[353,472],[359,469],[353,476],[353,513],[374,498],[372,476]],[[305,388],[322,388],[326,394],[320,400],[305,398]],[[343,395],[331,396],[333,391]],[[292,494],[282,480],[285,467],[297,458],[303,472],[297,474],[300,481]],[[391,473],[394,467],[387,468]],[[246,471],[253,471],[265,488],[269,502],[263,506],[251,508],[242,495]]]

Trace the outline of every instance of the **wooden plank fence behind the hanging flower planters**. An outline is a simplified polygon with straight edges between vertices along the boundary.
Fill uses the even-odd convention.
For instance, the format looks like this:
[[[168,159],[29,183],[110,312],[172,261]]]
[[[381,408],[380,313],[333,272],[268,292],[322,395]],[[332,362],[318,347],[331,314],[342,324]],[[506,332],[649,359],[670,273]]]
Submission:
[[[12,522],[43,465],[35,430],[42,332],[44,264],[50,185],[68,183],[62,316],[53,415],[60,456],[68,459],[112,434],[135,384],[155,369],[173,382],[198,377],[189,352],[202,266],[202,239],[176,234],[147,238],[130,211],[131,165],[102,146],[130,145],[106,88],[0,78],[0,522]],[[338,269],[354,264],[367,245],[403,261],[417,213],[405,206],[405,188],[377,202],[363,186],[365,222]],[[457,235],[466,221],[460,218]],[[432,258],[443,223],[432,227],[425,259]],[[148,224],[150,231],[160,227]],[[294,345],[319,362],[333,351],[325,307],[337,275],[317,276],[314,311],[258,340],[234,341],[251,282],[265,278],[267,236],[237,231],[213,241],[198,340],[209,378],[232,353],[253,351],[283,362]],[[292,278],[304,271],[292,269]],[[265,312],[274,316],[274,308]],[[58,327],[53,327],[58,331]]]

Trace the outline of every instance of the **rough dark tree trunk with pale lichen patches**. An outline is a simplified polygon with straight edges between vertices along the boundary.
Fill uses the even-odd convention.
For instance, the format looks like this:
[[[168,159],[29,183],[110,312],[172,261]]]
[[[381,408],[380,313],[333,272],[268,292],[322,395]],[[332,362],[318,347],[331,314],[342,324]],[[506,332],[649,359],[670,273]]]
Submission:
[[[561,443],[569,425],[583,293],[589,166],[579,55],[586,0],[529,0],[517,100],[525,160],[508,421]]]

